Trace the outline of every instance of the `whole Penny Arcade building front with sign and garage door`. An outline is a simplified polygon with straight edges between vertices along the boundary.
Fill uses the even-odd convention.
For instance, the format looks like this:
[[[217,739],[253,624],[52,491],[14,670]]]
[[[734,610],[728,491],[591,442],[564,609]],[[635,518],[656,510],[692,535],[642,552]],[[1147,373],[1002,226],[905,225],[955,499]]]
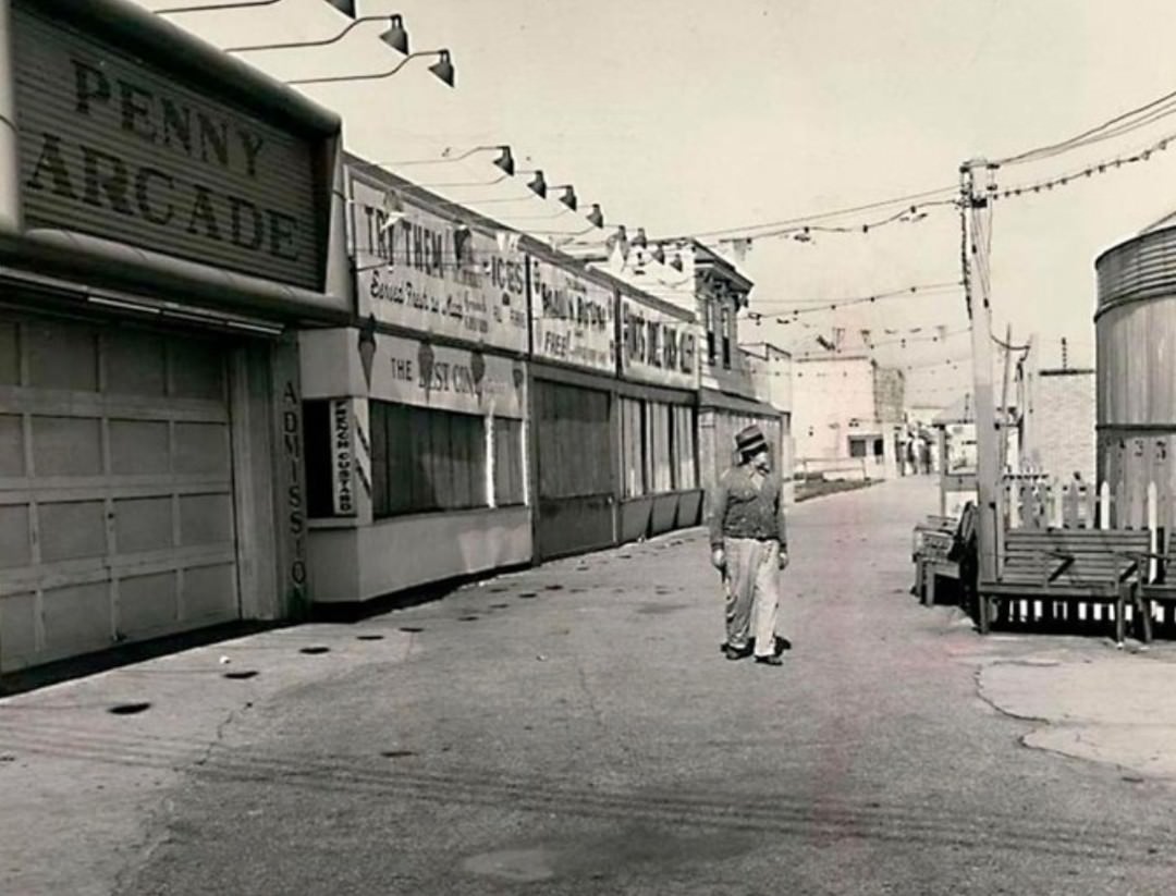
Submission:
[[[339,120],[122,0],[0,34],[0,671],[299,613]]]

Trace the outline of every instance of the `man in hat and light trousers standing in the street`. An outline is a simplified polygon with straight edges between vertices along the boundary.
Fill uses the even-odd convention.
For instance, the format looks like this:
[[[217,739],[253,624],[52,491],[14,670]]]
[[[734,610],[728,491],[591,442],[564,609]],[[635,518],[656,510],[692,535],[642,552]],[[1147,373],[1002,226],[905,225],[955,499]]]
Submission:
[[[781,666],[776,651],[777,579],[788,566],[788,536],[780,474],[771,469],[768,442],[759,427],[735,436],[739,463],[727,470],[710,502],[710,562],[723,575],[728,660],[753,653],[755,661]]]

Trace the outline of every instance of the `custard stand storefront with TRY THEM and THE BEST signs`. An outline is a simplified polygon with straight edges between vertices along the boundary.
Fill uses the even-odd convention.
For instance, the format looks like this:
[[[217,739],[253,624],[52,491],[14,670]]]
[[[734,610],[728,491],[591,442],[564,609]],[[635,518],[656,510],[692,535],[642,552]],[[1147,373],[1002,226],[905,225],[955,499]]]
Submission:
[[[526,259],[358,159],[356,317],[301,336],[313,600],[530,562]]]

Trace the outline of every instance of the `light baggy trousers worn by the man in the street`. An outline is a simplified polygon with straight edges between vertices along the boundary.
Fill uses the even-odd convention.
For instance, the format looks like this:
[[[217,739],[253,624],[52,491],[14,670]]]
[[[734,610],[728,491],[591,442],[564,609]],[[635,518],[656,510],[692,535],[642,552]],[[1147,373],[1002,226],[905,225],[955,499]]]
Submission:
[[[723,539],[727,568],[727,643],[746,648],[755,635],[756,656],[768,656],[776,647],[776,615],[780,609],[780,542],[757,539]]]

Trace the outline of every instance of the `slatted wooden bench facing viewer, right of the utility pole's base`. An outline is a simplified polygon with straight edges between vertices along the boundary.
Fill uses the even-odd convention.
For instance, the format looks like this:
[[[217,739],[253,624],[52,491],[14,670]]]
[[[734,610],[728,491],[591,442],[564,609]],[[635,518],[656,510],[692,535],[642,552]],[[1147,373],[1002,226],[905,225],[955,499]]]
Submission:
[[[995,581],[977,586],[980,631],[988,634],[1000,602],[1064,601],[1115,607],[1115,641],[1123,642],[1124,609],[1134,601],[1147,529],[1010,529]]]

